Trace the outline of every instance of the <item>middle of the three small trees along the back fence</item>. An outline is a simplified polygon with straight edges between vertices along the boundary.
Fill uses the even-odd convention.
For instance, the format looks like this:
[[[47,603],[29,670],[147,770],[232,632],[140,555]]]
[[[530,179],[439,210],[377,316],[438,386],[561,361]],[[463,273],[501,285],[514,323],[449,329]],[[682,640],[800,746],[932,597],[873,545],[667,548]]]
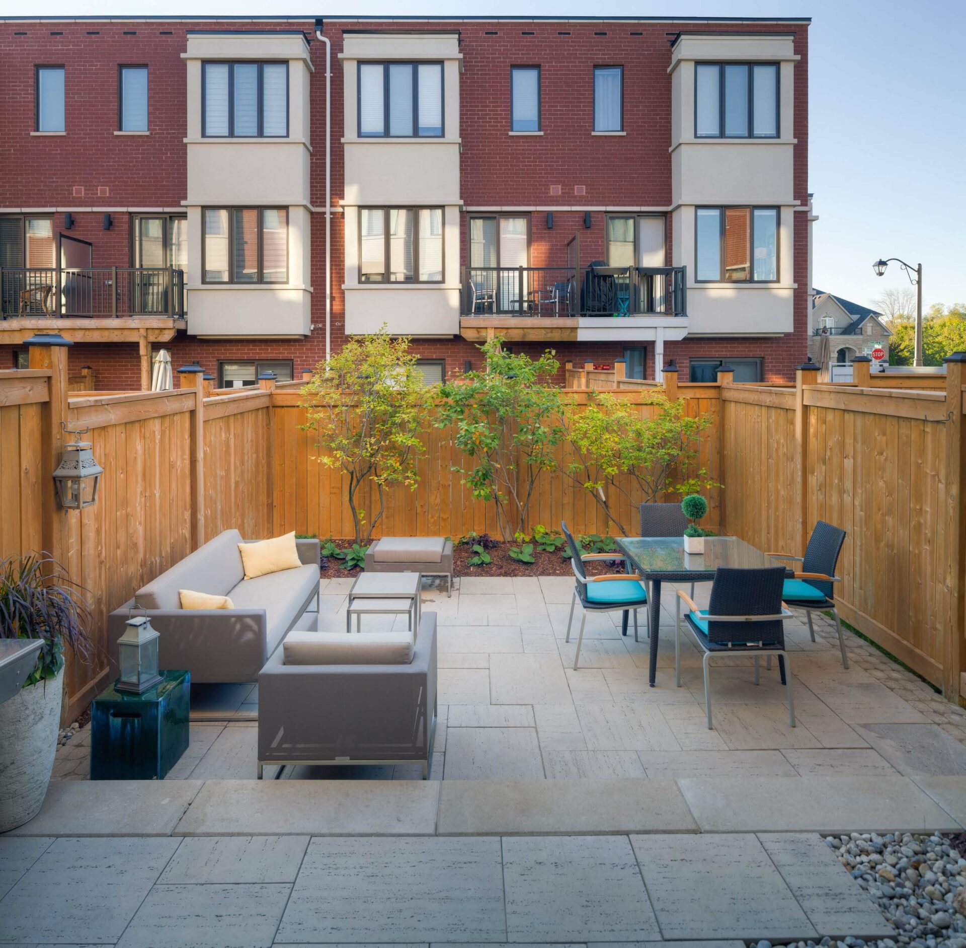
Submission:
[[[440,427],[453,425],[456,446],[471,465],[456,466],[477,501],[497,505],[503,539],[526,531],[537,480],[556,467],[563,439],[559,389],[550,381],[559,369],[554,353],[539,359],[504,352],[502,340],[480,346],[481,371],[468,372],[440,388]]]

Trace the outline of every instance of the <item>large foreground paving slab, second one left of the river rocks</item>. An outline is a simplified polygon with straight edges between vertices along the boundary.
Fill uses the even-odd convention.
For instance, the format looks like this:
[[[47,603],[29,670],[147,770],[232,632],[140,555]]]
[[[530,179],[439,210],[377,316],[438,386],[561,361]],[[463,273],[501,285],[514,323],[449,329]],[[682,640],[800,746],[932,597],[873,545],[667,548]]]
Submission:
[[[631,843],[665,940],[815,937],[752,834],[632,836]]]

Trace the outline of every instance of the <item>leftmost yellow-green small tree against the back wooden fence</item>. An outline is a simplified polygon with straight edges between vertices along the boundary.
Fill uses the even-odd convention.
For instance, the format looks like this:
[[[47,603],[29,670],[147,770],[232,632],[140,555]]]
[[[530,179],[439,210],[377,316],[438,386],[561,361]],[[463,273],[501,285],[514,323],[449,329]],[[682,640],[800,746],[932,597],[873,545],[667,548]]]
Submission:
[[[425,450],[419,431],[428,399],[409,344],[407,338],[391,339],[385,327],[355,336],[302,387],[308,417],[303,428],[315,432],[319,462],[348,477],[356,543],[371,539],[386,487],[414,490],[419,480],[416,464]],[[371,517],[357,503],[366,485],[375,487],[378,498]]]

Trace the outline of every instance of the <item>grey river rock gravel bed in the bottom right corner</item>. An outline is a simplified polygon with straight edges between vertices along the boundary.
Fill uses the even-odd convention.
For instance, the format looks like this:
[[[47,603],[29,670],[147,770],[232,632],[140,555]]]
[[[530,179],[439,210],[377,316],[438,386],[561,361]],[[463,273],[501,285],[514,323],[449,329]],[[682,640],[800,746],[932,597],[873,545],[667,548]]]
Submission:
[[[798,948],[966,948],[966,858],[939,833],[852,833],[825,840],[895,926],[892,938],[782,942]],[[772,948],[750,941],[752,948]]]

